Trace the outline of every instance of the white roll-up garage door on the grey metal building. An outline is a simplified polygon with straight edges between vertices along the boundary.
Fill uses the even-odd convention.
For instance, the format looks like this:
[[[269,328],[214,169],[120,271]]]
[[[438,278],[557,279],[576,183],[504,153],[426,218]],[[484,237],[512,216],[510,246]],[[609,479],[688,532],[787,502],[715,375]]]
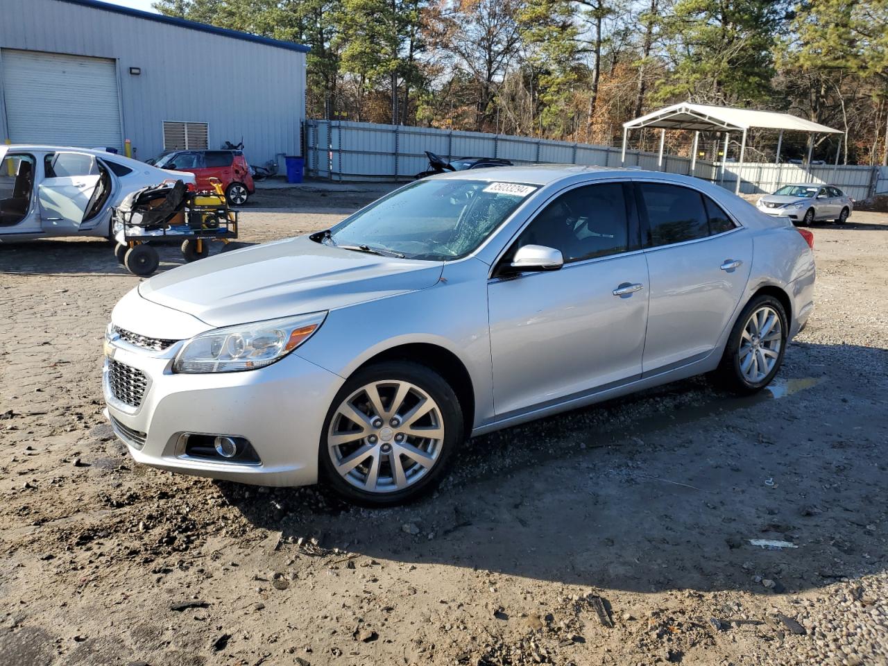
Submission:
[[[123,147],[114,60],[4,49],[0,61],[12,143]]]

